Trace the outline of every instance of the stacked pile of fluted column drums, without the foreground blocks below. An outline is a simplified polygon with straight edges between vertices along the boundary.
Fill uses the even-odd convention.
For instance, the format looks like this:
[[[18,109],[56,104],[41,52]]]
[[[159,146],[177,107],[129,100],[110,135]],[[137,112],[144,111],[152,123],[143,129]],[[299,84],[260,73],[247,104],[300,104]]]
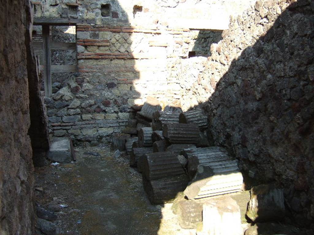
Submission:
[[[130,166],[143,175],[152,204],[171,202],[183,191],[195,200],[241,190],[237,161],[204,140],[208,124],[203,110],[182,112],[170,106],[162,110],[153,98],[132,109],[133,118],[122,131],[132,137],[125,149]]]

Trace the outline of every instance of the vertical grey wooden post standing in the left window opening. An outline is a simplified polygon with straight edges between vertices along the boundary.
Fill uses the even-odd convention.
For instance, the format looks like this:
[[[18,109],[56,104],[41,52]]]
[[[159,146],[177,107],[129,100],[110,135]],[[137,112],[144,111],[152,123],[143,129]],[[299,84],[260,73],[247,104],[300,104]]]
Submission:
[[[44,51],[45,96],[50,97],[52,94],[52,84],[51,84],[51,51],[50,51],[49,25],[42,26],[42,47]]]

